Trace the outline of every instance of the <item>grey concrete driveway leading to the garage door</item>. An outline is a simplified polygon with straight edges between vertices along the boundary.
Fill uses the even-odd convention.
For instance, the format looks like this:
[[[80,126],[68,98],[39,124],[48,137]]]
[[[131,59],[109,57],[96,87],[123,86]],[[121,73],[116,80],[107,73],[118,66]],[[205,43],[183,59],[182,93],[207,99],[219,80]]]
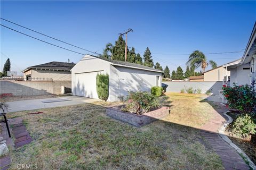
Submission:
[[[60,107],[69,105],[78,105],[83,103],[92,103],[98,99],[79,97],[79,96],[65,96],[55,98],[44,98],[34,100],[21,100],[6,102],[8,105],[8,112],[29,111],[40,108]]]

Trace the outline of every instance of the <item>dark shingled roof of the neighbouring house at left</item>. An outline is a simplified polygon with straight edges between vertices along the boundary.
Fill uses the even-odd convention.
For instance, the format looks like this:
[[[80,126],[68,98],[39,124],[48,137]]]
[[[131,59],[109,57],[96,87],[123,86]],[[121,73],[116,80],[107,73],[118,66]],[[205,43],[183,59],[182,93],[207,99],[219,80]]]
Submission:
[[[31,69],[70,71],[75,65],[75,63],[50,62],[27,67],[27,69],[23,70],[22,72],[26,72]]]

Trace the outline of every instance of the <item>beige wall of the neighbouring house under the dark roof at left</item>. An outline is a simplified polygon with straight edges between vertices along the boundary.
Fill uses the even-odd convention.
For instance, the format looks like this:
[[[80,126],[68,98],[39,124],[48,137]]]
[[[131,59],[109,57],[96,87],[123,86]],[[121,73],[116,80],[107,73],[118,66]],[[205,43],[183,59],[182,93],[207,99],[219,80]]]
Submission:
[[[71,81],[70,71],[52,71],[52,70],[30,70],[24,73],[24,78],[26,75],[30,74],[31,78],[51,78],[54,81]]]

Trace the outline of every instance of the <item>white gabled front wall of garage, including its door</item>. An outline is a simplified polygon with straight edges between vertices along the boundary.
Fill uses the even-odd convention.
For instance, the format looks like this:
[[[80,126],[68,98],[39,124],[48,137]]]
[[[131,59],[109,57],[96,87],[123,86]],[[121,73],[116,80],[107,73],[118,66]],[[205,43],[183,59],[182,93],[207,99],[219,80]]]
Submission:
[[[85,55],[81,61],[71,69],[72,94],[76,96],[94,97],[97,72],[109,74],[109,65],[107,61]],[[89,73],[87,75],[91,75],[93,72],[95,76],[86,77],[87,73]],[[98,98],[98,95],[94,98]]]

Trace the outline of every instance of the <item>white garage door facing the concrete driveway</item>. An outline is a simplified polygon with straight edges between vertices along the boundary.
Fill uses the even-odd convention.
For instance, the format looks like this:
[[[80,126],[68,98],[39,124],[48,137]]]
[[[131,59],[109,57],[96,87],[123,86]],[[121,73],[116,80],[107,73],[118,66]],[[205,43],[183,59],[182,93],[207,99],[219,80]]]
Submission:
[[[90,73],[78,73],[75,74],[76,77],[76,95],[83,97],[90,97],[98,99],[97,89],[96,89],[96,76],[97,74],[103,73],[90,72]]]

